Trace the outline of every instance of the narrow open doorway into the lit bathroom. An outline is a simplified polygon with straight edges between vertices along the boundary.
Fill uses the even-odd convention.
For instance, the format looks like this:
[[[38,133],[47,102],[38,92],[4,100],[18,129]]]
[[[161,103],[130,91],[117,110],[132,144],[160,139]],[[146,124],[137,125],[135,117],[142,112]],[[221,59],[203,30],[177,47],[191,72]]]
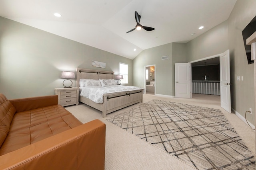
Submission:
[[[145,66],[144,71],[144,89],[145,94],[156,94],[156,65]]]

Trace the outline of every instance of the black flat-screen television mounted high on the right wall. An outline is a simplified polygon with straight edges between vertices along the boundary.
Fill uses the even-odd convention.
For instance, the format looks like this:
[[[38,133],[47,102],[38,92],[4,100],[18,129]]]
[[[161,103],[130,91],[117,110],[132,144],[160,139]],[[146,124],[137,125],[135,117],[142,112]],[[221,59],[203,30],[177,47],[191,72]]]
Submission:
[[[254,63],[251,60],[251,45],[246,45],[246,39],[250,37],[256,31],[256,16],[250,21],[250,23],[244,28],[242,31],[243,39],[244,39],[244,48],[246,51],[246,57],[248,64]]]

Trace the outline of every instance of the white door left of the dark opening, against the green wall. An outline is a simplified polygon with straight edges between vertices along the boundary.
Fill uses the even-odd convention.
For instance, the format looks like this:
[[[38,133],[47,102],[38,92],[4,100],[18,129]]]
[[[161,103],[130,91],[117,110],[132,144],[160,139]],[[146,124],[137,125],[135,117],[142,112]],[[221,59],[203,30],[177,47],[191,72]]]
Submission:
[[[191,98],[191,63],[175,63],[175,97]]]

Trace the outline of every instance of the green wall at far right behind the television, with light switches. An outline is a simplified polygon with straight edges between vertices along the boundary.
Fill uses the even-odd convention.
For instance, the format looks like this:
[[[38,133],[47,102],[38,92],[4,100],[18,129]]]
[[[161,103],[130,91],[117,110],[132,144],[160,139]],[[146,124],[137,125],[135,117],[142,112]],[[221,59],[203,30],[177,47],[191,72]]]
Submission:
[[[244,49],[242,30],[256,16],[256,0],[238,0],[228,18],[228,48],[230,49],[230,78],[232,108],[244,117],[252,108],[247,120],[255,125],[254,113],[254,64],[248,64]],[[255,62],[254,62],[255,63]],[[244,81],[237,81],[243,76]]]

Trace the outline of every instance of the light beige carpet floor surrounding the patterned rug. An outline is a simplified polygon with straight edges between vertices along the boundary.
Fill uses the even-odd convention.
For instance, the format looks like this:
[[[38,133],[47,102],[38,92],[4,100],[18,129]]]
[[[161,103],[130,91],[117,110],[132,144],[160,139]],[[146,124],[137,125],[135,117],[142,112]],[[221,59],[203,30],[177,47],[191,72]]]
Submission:
[[[246,125],[243,121],[241,121],[234,113],[227,113],[220,107],[220,96],[193,94],[192,99],[180,99],[166,98],[149,94],[143,95],[144,103],[153,99],[220,109],[228,121],[232,124],[236,132],[240,135],[244,143],[246,143],[246,146],[255,156],[254,131],[250,129],[250,127],[248,127],[248,125]],[[125,132],[123,129],[116,127],[116,125],[106,121],[106,119],[111,116],[120,114],[139,105],[140,104],[135,104],[133,106],[115,111],[108,114],[106,118],[102,118],[102,113],[100,111],[82,103],[80,103],[78,106],[68,106],[65,108],[73,113],[83,123],[93,119],[100,119],[106,123],[106,170],[194,169],[192,166],[189,166],[177,158],[170,156],[163,150],[160,150],[151,144],[142,141],[138,137],[135,137],[134,135]]]

